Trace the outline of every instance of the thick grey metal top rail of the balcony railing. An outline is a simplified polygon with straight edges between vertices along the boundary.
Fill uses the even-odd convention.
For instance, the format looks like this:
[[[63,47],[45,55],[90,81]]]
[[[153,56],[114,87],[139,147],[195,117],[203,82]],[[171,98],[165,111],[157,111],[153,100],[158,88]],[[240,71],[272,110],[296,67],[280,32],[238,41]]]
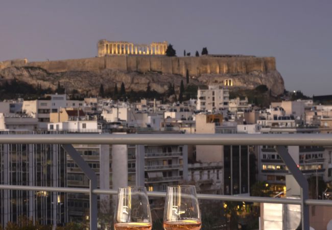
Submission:
[[[3,134],[0,144],[332,146],[331,134]]]

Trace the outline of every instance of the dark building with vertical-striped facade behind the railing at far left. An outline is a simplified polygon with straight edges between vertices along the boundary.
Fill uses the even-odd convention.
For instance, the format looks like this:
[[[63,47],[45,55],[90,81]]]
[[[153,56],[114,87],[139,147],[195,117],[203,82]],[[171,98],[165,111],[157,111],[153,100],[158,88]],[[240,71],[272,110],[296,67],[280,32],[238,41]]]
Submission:
[[[5,133],[33,134],[36,131]],[[0,145],[2,185],[66,187],[65,166],[66,154],[60,145]],[[66,199],[66,194],[59,192],[0,190],[0,224],[6,226],[20,216],[45,225],[64,223],[67,221]]]

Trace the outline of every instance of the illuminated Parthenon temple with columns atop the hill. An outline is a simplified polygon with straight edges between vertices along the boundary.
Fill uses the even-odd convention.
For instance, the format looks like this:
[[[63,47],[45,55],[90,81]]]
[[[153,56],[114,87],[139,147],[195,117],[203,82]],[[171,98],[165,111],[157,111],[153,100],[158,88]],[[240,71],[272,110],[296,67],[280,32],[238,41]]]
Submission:
[[[152,42],[151,44],[134,44],[127,41],[98,41],[98,56],[107,55],[165,55],[167,41]]]

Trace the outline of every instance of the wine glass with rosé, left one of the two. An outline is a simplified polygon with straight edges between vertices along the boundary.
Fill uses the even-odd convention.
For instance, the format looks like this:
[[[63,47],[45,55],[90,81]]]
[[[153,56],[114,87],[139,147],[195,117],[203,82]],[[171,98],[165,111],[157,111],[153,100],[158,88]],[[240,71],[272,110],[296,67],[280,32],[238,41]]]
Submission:
[[[145,187],[119,188],[114,214],[115,230],[151,230],[152,218]]]

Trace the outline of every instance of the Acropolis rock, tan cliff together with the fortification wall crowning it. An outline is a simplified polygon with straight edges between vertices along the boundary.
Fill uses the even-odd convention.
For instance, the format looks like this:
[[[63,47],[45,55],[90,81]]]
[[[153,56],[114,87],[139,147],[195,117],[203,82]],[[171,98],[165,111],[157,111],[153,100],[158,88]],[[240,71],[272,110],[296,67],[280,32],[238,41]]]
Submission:
[[[96,94],[100,84],[105,88],[124,82],[126,89],[152,89],[163,93],[168,83],[180,85],[188,72],[190,83],[195,85],[220,84],[231,79],[231,88],[252,89],[265,84],[272,94],[284,91],[281,75],[273,57],[159,57],[123,55],[86,59],[70,59],[44,62],[0,62],[2,81],[16,78],[32,85],[56,88],[58,82],[67,91],[77,89],[82,93]]]

